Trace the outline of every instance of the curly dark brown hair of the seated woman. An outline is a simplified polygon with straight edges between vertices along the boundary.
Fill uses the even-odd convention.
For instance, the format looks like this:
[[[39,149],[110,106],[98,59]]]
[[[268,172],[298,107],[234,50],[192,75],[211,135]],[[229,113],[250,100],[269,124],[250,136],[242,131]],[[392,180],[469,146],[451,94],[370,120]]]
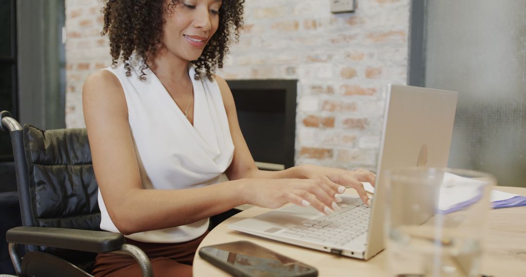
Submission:
[[[140,63],[141,80],[146,80],[144,70],[148,68],[148,61],[154,57],[159,45],[162,44],[164,13],[179,3],[170,0],[167,11],[165,0],[103,0],[105,6],[104,27],[102,35],[108,34],[112,67],[116,67],[119,57],[124,62],[126,76],[131,76],[129,58],[135,54],[143,58]],[[216,67],[223,67],[223,59],[228,54],[228,41],[234,33],[236,41],[243,24],[243,4],[245,0],[223,0],[219,9],[219,26],[210,38],[203,54],[197,60],[191,61],[197,70],[194,78],[200,78],[199,72],[205,71],[211,81]]]

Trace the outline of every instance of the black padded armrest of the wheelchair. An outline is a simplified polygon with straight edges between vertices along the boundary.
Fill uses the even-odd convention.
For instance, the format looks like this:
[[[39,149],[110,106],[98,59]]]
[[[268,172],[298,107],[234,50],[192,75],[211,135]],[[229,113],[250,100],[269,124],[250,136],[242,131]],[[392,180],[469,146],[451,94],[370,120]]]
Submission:
[[[9,243],[32,244],[93,253],[120,250],[124,236],[120,233],[66,228],[22,226],[7,230]]]

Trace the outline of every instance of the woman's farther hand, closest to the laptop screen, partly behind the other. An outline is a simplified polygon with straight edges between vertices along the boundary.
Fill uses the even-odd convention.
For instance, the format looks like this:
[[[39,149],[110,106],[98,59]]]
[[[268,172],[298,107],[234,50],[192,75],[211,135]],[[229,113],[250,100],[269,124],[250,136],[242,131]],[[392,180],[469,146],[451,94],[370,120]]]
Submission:
[[[367,191],[363,188],[361,182],[369,182],[371,186],[374,187],[376,175],[372,172],[361,168],[356,171],[348,171],[345,169],[317,165],[301,165],[299,167],[305,178],[326,180],[327,182],[356,189],[363,203],[371,206],[369,196],[367,196]],[[345,191],[345,189],[341,189],[341,191],[338,192],[343,193],[343,191]]]

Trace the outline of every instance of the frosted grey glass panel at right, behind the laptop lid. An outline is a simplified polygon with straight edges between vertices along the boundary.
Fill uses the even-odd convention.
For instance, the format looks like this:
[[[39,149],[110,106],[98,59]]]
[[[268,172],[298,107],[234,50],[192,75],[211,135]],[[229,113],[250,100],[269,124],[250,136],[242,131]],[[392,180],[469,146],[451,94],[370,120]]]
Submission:
[[[526,1],[427,3],[426,87],[459,91],[449,166],[526,187]]]

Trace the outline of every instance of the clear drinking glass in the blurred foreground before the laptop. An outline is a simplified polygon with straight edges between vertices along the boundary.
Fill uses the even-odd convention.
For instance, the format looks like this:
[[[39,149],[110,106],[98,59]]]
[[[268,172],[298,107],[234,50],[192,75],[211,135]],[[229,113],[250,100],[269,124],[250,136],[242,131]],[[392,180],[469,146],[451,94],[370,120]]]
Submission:
[[[387,172],[386,241],[391,276],[477,276],[496,183],[450,168]]]

